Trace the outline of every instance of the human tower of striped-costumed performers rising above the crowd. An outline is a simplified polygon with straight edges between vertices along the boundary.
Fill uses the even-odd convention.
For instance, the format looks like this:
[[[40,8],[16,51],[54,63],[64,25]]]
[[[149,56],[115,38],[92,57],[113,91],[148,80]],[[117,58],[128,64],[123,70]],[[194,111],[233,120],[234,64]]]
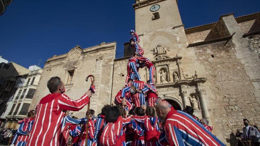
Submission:
[[[131,110],[133,107],[140,107],[142,105],[155,106],[158,97],[153,78],[155,66],[144,56],[144,49],[139,45],[140,38],[138,34],[134,30],[130,30],[130,34],[130,49],[134,49],[135,53],[129,58],[127,63],[125,87],[117,93],[115,104],[124,106],[126,110]],[[149,80],[147,82],[141,80],[138,72],[139,68],[144,67],[149,69]],[[147,98],[145,98],[145,93]]]

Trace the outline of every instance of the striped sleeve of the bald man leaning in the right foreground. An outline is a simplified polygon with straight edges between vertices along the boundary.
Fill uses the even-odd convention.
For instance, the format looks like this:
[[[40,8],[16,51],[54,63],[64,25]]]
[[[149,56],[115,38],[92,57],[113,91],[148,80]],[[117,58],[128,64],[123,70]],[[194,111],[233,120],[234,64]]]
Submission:
[[[167,122],[164,127],[165,135],[168,137],[169,146],[185,146],[177,127]]]

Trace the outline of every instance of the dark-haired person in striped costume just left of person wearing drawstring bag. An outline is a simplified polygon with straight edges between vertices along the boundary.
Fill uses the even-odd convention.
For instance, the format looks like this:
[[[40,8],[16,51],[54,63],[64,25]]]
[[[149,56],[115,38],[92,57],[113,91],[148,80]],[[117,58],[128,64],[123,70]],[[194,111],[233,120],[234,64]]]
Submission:
[[[101,114],[98,115],[96,123],[95,123],[95,133],[92,141],[92,146],[100,146],[100,136],[105,127],[105,114],[108,109],[111,108],[111,105],[105,105],[101,109]]]

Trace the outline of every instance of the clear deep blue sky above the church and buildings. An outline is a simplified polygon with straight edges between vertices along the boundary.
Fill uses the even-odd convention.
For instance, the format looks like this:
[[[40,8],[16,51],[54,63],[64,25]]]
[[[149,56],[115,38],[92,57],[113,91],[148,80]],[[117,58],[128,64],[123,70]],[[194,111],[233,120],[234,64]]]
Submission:
[[[117,52],[135,26],[134,0],[14,0],[0,16],[0,55],[26,68],[47,58],[101,42],[117,42]],[[178,0],[186,28],[216,22],[219,16],[259,12],[259,0]]]

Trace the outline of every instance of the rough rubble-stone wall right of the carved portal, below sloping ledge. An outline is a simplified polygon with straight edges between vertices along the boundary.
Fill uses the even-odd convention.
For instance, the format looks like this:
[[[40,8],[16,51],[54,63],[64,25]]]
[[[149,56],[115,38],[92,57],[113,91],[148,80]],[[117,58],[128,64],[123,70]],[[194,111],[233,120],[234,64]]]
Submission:
[[[260,124],[260,107],[254,96],[254,86],[236,57],[235,44],[226,41],[194,47],[196,61],[206,71],[207,83],[212,95],[213,133],[223,142],[235,142],[236,129],[242,129],[243,118],[251,124]]]

